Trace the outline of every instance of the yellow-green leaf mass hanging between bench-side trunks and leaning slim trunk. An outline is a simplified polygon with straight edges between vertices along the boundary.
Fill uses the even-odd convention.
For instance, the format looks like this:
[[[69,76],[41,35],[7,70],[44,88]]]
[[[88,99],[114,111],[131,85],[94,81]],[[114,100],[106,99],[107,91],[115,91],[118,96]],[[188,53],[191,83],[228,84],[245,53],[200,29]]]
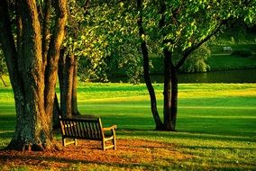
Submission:
[[[83,81],[107,81],[123,72],[137,82],[142,73],[138,55],[133,5],[91,1],[70,3],[69,33],[65,46],[78,56],[78,74]],[[75,34],[74,34],[75,32]]]

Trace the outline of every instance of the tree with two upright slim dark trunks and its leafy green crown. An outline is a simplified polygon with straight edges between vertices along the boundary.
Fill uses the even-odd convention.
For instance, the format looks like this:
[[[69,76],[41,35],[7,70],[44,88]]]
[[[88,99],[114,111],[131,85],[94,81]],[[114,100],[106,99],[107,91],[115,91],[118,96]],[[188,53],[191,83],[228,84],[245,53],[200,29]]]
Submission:
[[[157,42],[159,54],[162,53],[164,58],[164,121],[161,130],[176,130],[178,69],[194,50],[222,28],[232,15],[233,6],[228,4],[226,7],[225,1],[144,1],[142,8],[139,7],[139,17],[144,21],[138,23],[143,30],[140,31],[142,43]],[[144,59],[145,54],[142,53]]]

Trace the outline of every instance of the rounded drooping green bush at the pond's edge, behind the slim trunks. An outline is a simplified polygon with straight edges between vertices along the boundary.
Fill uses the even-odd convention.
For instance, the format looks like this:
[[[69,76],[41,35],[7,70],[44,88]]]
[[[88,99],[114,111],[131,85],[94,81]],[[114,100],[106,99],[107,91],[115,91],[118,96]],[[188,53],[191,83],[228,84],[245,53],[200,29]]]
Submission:
[[[210,70],[210,66],[207,64],[210,55],[211,50],[206,44],[203,44],[188,56],[180,70],[187,73],[206,72]]]

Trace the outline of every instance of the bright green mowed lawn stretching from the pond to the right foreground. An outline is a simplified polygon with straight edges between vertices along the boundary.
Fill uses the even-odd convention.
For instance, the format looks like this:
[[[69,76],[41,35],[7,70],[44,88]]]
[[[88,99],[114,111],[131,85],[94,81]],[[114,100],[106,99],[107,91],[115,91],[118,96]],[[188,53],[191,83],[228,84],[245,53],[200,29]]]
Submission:
[[[154,87],[162,116],[162,85]],[[172,144],[175,151],[189,155],[145,161],[138,170],[256,170],[256,84],[181,84],[178,90],[176,132],[154,130],[143,84],[80,84],[78,108],[83,114],[101,117],[105,126],[116,124],[117,142],[146,139]],[[2,86],[0,148],[12,138],[14,126],[12,89]]]

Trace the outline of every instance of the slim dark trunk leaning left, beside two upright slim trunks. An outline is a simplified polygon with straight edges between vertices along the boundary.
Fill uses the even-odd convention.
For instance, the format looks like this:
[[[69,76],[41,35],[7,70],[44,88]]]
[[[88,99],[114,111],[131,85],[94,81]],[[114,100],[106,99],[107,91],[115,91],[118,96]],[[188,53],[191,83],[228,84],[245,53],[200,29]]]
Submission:
[[[145,34],[142,26],[142,1],[137,0],[138,11],[140,11],[140,16],[138,18],[137,24],[139,27],[139,34],[142,36]],[[160,120],[160,115],[157,108],[157,99],[154,91],[154,87],[151,84],[151,76],[150,76],[150,65],[149,65],[149,52],[146,45],[146,41],[142,40],[141,42],[142,49],[142,57],[143,57],[143,74],[144,80],[147,85],[150,97],[151,97],[151,113],[153,115],[153,119],[155,121],[156,130],[163,130],[163,123]]]

